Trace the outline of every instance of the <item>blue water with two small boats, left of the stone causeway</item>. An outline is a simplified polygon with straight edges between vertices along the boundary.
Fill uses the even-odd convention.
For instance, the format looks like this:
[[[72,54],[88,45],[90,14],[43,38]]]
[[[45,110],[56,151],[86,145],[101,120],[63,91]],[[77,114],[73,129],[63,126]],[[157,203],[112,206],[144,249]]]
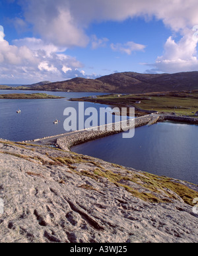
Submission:
[[[0,90],[0,94],[32,94],[36,91],[11,91]],[[0,138],[11,141],[32,140],[51,135],[66,133],[63,128],[66,107],[75,107],[78,110],[77,101],[68,101],[71,97],[85,97],[101,95],[102,93],[73,93],[73,92],[44,92],[54,96],[62,96],[64,99],[0,99]],[[104,94],[104,93],[103,93]],[[106,105],[85,102],[86,107],[107,107]],[[17,114],[16,110],[21,113]],[[56,125],[55,119],[59,120]]]

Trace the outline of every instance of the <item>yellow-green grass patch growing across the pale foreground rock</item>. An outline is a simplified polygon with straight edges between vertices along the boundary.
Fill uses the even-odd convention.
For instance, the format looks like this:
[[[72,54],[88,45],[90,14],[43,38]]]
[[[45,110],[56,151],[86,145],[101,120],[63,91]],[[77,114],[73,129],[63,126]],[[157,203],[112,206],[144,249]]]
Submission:
[[[116,172],[113,172],[112,170],[104,168],[101,164],[94,162],[92,158],[89,159],[87,157],[83,157],[83,155],[77,154],[71,155],[70,157],[51,157],[51,160],[55,161],[55,164],[67,165],[71,172],[75,172],[81,176],[88,176],[96,181],[100,180],[100,177],[107,178],[109,182],[114,183],[116,186],[125,188],[125,190],[131,193],[131,195],[141,198],[147,202],[172,202],[174,199],[178,200],[177,196],[174,195],[174,193],[176,193],[186,204],[193,206],[193,198],[198,198],[198,192],[180,184],[180,182],[174,182],[171,178],[166,176],[157,176],[148,172],[132,174],[123,168],[123,166],[119,166],[118,164],[112,164],[112,166],[117,168]],[[93,170],[81,170],[81,172],[77,172],[73,164],[80,164],[82,162],[86,164],[93,164],[95,167]],[[123,169],[125,169],[124,175],[119,173],[119,168],[122,172]],[[133,188],[133,185],[129,186],[127,184],[123,184],[121,180],[134,182],[147,192],[140,192],[138,189]],[[169,190],[172,190],[174,193],[171,193]],[[166,195],[164,198],[160,196],[162,193]]]

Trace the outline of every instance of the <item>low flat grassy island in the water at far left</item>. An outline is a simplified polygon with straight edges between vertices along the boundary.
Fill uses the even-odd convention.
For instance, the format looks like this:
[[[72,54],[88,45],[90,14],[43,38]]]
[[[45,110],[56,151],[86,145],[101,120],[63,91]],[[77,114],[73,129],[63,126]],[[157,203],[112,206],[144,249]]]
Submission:
[[[0,99],[63,99],[49,94],[0,94]]]

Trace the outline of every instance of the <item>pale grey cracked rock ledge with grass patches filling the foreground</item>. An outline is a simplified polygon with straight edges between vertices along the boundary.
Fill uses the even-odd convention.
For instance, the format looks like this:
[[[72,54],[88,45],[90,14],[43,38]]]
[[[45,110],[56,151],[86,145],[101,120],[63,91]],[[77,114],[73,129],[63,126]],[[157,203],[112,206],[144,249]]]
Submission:
[[[197,242],[197,186],[0,141],[1,242]]]

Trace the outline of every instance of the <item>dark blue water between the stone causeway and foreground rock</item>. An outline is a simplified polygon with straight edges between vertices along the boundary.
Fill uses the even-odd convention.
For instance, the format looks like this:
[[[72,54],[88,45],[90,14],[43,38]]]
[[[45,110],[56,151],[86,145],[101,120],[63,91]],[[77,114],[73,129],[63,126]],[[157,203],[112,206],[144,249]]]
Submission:
[[[77,145],[72,151],[198,184],[197,135],[197,125],[157,123],[135,129],[131,139],[118,133]]]

